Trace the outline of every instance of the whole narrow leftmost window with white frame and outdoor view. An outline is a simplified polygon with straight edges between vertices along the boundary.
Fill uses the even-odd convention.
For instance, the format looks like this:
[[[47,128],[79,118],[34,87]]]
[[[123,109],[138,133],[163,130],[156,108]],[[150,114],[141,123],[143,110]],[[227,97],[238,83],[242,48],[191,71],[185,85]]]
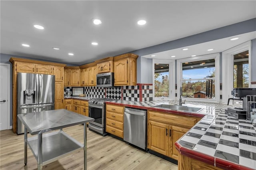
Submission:
[[[158,99],[174,99],[175,61],[153,59],[153,94]]]

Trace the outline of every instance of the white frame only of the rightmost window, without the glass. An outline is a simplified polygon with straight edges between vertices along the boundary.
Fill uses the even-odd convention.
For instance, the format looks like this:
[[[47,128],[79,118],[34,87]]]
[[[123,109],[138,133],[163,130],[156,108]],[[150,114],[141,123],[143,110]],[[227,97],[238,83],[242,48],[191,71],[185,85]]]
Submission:
[[[222,51],[222,103],[228,103],[228,98],[232,98],[231,91],[234,88],[234,57],[233,55],[240,53],[242,51],[249,51],[249,84],[251,87],[251,77],[252,77],[252,43],[251,40],[235,47],[232,47],[226,51]],[[224,66],[224,67],[223,67]]]

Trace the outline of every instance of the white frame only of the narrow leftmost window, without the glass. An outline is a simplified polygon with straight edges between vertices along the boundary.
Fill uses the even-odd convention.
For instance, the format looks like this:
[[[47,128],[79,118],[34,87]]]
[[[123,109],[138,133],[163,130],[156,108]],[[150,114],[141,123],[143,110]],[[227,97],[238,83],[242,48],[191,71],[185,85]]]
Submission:
[[[160,99],[159,97],[155,98],[155,81],[154,81],[155,76],[154,75],[155,75],[155,64],[156,63],[169,64],[169,97],[164,97],[163,99],[175,99],[175,60],[152,59],[153,100]]]

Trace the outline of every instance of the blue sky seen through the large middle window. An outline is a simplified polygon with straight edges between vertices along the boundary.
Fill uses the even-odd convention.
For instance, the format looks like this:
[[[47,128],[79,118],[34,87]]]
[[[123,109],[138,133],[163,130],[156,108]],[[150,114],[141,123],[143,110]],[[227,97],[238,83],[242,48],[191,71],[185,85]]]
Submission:
[[[182,77],[183,79],[203,79],[206,76],[211,75],[214,70],[214,67],[183,70]]]

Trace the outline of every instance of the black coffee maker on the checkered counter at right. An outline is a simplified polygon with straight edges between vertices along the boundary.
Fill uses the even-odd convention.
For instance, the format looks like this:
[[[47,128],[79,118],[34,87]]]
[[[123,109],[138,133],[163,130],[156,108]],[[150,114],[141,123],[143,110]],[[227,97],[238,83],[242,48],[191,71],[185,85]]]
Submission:
[[[238,119],[246,119],[247,101],[252,99],[251,96],[256,95],[256,88],[234,88],[231,94],[233,98],[228,99],[228,104],[230,100],[233,100],[234,107],[226,109],[226,112],[232,116],[238,115]]]

